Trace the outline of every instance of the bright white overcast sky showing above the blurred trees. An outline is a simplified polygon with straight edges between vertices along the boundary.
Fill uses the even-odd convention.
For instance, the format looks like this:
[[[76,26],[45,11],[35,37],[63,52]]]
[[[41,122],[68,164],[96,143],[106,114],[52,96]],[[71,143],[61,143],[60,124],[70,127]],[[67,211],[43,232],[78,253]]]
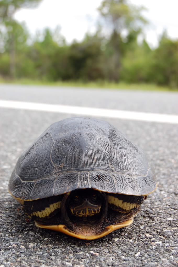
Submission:
[[[68,42],[81,40],[89,30],[96,29],[99,13],[96,10],[101,0],[43,0],[36,9],[21,9],[15,18],[25,21],[32,34],[45,27],[61,27],[61,34]],[[130,0],[135,5],[143,5],[148,11],[143,14],[152,23],[145,29],[150,46],[157,45],[157,38],[164,29],[172,38],[178,38],[177,0]]]

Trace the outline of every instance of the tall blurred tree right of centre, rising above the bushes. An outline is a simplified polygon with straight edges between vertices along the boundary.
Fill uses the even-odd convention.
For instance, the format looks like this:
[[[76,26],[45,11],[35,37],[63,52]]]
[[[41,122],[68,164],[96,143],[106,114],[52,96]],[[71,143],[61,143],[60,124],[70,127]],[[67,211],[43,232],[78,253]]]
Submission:
[[[104,0],[99,11],[101,16],[105,19],[105,27],[111,30],[111,38],[108,42],[109,59],[108,66],[113,66],[110,80],[119,80],[119,70],[122,58],[122,33],[127,32],[141,32],[141,29],[146,19],[141,15],[143,7],[136,7],[128,4],[127,0]],[[109,64],[110,63],[110,64]]]

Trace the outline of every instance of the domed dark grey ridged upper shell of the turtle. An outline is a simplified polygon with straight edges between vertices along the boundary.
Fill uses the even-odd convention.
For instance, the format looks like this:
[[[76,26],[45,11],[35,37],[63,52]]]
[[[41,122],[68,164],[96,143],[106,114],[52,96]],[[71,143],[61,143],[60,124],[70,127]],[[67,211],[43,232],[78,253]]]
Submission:
[[[147,195],[156,175],[143,151],[106,121],[74,117],[53,123],[20,156],[9,192],[22,200],[75,189]]]

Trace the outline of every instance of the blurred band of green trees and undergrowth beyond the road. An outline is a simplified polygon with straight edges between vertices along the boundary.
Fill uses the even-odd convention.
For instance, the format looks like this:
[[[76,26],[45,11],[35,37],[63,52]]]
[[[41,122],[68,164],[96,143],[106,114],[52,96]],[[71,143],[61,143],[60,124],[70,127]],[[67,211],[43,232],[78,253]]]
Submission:
[[[148,23],[141,15],[143,7],[126,0],[104,0],[98,9],[103,23],[96,33],[67,44],[59,27],[44,29],[32,40],[25,24],[13,19],[18,8],[39,2],[0,1],[1,77],[178,87],[178,40],[171,40],[164,32],[156,49],[151,49],[145,39],[137,41]]]

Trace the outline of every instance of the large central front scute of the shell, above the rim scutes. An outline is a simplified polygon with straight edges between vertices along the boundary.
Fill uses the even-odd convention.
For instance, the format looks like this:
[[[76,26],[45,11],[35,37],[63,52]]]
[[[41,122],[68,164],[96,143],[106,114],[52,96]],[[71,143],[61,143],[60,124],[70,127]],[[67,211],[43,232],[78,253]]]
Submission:
[[[90,132],[73,133],[57,140],[51,152],[52,162],[59,171],[90,171],[108,169],[112,146],[106,138]]]

